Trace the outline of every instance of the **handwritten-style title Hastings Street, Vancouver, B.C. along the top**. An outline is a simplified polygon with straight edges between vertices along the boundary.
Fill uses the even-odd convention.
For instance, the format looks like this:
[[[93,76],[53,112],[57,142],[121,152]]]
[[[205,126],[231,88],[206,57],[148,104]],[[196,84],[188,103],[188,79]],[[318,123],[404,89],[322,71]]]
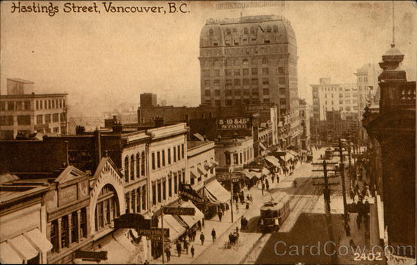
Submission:
[[[67,2],[62,6],[56,6],[54,3],[49,2],[47,4],[35,3],[31,5],[24,5],[20,2],[12,2],[12,13],[45,13],[50,17],[54,17],[60,10],[65,13],[97,13],[101,14],[101,11],[105,13],[129,13],[129,14],[186,14],[190,12],[188,10],[187,3],[174,3],[167,2],[165,6],[139,6],[139,5],[126,5],[113,2],[92,2],[90,5],[79,5],[78,3]]]

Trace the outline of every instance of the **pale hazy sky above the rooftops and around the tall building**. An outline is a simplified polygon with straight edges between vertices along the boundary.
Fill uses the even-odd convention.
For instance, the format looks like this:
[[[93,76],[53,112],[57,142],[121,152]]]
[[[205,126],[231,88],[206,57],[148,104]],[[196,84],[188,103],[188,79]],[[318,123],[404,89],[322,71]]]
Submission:
[[[300,97],[311,83],[331,77],[354,83],[353,73],[379,62],[392,40],[391,1],[288,1],[285,8],[216,10],[218,1],[187,2],[188,11],[168,13],[165,1],[113,1],[115,6],[163,6],[167,14],[107,13],[103,1],[51,1],[53,17],[12,13],[1,2],[1,93],[6,78],[35,82],[36,92],[68,92],[70,103],[139,103],[154,92],[170,105],[199,104],[199,33],[206,19],[284,15],[297,38]],[[18,2],[15,2],[16,4]],[[21,1],[22,6],[49,1]],[[92,6],[100,13],[63,12],[65,3]],[[177,2],[177,6],[185,2]],[[185,6],[184,6],[185,7]],[[395,44],[403,68],[416,71],[416,4],[395,1]]]

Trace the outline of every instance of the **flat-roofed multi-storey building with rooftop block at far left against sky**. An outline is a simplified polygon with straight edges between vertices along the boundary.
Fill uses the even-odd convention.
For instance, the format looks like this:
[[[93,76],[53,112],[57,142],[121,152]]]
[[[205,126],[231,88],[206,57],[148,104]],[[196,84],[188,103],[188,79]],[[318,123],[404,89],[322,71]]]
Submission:
[[[0,139],[17,134],[67,134],[67,94],[35,94],[33,82],[10,78],[8,94],[0,95]]]

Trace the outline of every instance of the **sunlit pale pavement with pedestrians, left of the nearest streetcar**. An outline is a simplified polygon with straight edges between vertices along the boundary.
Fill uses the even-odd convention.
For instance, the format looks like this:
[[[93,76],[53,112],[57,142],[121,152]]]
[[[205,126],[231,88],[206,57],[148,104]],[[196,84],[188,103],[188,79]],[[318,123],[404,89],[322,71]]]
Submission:
[[[304,163],[303,163],[304,164]],[[300,162],[296,164],[296,170],[300,167]],[[295,171],[296,171],[295,170]],[[293,185],[293,180],[297,174],[293,173],[290,176],[284,176],[281,174],[279,176],[280,180],[277,183],[276,179],[275,182],[272,183],[270,177],[268,177],[268,181],[270,182],[270,190],[277,188],[277,187],[291,187]],[[246,210],[245,205],[239,203],[239,212],[236,212],[235,203],[233,205],[233,215],[234,215],[234,223],[231,223],[231,211],[227,210],[224,212],[222,217],[222,221],[220,222],[218,216],[214,216],[211,220],[205,220],[205,226],[202,229],[205,235],[204,246],[202,246],[201,241],[199,240],[200,232],[197,232],[194,242],[190,242],[190,245],[193,245],[195,248],[195,256],[192,258],[190,250],[188,251],[188,255],[186,252],[182,250],[181,257],[178,257],[177,249],[175,246],[171,247],[171,259],[170,264],[192,264],[192,263],[211,263],[211,264],[224,264],[228,263],[224,260],[224,253],[227,253],[228,259],[232,262],[229,264],[236,264],[239,263],[245,256],[245,253],[248,253],[253,247],[254,243],[258,241],[262,237],[262,233],[260,232],[240,232],[240,237],[238,246],[232,247],[231,249],[224,248],[225,243],[229,240],[228,235],[229,232],[232,232],[239,228],[240,231],[240,218],[245,215],[245,217],[250,220],[253,217],[259,216],[259,208],[263,203],[267,200],[270,200],[270,193],[266,190],[263,191],[259,187],[252,187],[249,191],[245,191],[245,193],[249,192],[252,194],[254,198],[254,204],[250,205],[250,209]],[[276,196],[276,194],[275,194]],[[256,225],[256,223],[250,223],[250,228]],[[213,243],[213,239],[211,238],[211,230],[215,229],[217,234],[217,239]],[[245,243],[243,243],[245,242]],[[251,243],[253,242],[253,243]],[[191,246],[190,246],[191,248]],[[150,262],[152,264],[161,264],[162,258],[159,257],[158,259],[152,260]],[[165,259],[165,263],[166,259]]]

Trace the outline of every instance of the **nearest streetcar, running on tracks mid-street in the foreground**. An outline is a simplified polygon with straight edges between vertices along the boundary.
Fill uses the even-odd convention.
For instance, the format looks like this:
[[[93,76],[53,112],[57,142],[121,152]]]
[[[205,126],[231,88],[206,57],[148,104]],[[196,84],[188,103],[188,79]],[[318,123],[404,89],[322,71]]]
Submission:
[[[278,230],[282,223],[290,214],[289,196],[284,196],[280,200],[270,200],[261,207],[259,218],[259,228],[264,231]]]

